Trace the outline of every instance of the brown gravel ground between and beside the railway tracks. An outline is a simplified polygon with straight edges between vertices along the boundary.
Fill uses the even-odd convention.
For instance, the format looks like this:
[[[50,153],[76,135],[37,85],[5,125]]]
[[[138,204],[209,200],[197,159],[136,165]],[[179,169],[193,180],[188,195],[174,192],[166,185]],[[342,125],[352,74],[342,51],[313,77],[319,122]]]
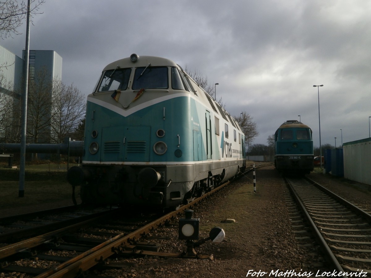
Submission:
[[[361,185],[322,173],[311,173],[309,178],[325,185],[343,198],[371,211],[371,186]],[[127,267],[92,271],[91,274],[106,277],[270,277],[272,271],[295,271],[296,275],[283,277],[306,277],[304,272],[329,271],[321,254],[311,254],[298,246],[290,221],[283,179],[273,166],[256,169],[256,193],[253,192],[252,174],[234,182],[223,191],[223,195],[212,196],[207,202],[193,208],[194,216],[200,218],[200,239],[208,236],[213,226],[226,231],[226,238],[217,244],[206,242],[195,248],[199,254],[213,254],[214,260],[179,258],[121,258]],[[54,204],[55,205],[55,204]],[[43,205],[50,208],[51,204]],[[26,208],[30,211],[30,208]],[[17,208],[18,213],[22,213]],[[14,213],[14,210],[13,210]],[[3,212],[4,214],[4,212]],[[1,215],[1,212],[0,212]],[[224,223],[226,218],[235,223]],[[177,240],[177,226],[168,226],[156,231],[157,236],[170,240],[162,243],[162,252],[185,251],[184,243]],[[257,275],[252,272],[259,272]],[[263,274],[262,272],[266,272]],[[247,275],[248,274],[248,275]],[[1,276],[3,277],[3,276]],[[20,276],[13,276],[20,277]]]

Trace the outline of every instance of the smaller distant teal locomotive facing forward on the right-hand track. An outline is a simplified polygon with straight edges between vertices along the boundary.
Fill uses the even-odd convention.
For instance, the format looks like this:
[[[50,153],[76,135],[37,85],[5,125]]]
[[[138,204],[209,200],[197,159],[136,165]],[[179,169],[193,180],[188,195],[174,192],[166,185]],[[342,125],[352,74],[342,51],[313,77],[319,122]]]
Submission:
[[[275,166],[280,172],[313,171],[312,129],[297,120],[288,120],[275,133]]]

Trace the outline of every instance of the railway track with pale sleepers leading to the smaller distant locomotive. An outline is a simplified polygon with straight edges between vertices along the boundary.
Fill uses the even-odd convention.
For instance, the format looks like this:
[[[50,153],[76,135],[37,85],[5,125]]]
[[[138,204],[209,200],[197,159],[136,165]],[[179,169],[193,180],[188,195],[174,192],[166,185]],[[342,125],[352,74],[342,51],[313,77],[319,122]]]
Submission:
[[[370,212],[308,178],[285,182],[336,272],[371,274]]]

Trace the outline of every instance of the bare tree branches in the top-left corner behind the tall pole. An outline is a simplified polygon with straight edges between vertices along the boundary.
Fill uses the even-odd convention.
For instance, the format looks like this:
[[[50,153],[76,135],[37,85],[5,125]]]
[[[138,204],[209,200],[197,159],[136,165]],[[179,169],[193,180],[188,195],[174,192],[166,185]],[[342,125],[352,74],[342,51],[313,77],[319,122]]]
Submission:
[[[30,14],[39,14],[41,4],[45,0],[31,0]],[[23,24],[23,19],[27,17],[27,1],[19,3],[17,0],[0,0],[0,36],[2,39],[12,37],[12,34],[20,34],[17,29]]]

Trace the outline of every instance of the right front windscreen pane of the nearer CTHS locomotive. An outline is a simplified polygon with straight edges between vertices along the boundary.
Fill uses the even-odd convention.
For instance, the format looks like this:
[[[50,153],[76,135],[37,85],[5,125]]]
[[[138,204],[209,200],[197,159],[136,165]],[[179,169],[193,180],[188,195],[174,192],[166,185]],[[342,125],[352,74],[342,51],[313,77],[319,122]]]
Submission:
[[[167,89],[169,87],[167,67],[137,67],[132,89]]]

